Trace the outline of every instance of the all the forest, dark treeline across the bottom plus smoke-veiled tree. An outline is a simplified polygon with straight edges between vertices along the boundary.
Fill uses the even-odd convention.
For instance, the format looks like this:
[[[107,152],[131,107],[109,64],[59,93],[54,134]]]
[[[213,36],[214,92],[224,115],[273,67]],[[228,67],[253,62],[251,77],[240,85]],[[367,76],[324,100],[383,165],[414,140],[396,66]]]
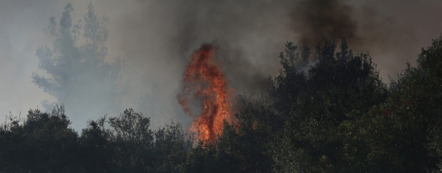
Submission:
[[[92,10],[84,26],[72,26],[69,5],[60,23],[51,18],[57,62],[77,51],[95,57],[77,64],[100,65],[107,32]],[[79,28],[91,41],[65,49],[75,47]],[[62,92],[71,69],[52,68],[51,51],[37,56],[60,76],[34,74],[34,83]],[[354,53],[345,38],[316,46],[287,42],[275,61],[281,68],[269,77],[268,94],[253,101],[238,95],[237,121],[225,121],[215,141],[191,139],[179,122],[152,129],[149,115],[131,108],[76,132],[68,118],[76,115],[61,104],[8,116],[0,127],[0,172],[442,172],[442,36],[389,83],[371,56]]]

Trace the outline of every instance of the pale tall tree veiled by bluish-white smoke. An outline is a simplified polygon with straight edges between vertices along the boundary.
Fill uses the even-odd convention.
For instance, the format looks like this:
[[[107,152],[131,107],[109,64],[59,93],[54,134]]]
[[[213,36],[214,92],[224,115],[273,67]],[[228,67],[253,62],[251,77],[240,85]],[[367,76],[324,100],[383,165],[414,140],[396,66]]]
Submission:
[[[99,18],[89,4],[84,21],[73,25],[72,11],[68,4],[59,23],[54,17],[50,18],[46,31],[55,38],[53,49],[44,46],[36,53],[39,68],[47,75],[34,73],[33,82],[56,97],[57,102],[88,110],[73,112],[75,116],[83,116],[84,120],[94,113],[114,113],[118,110],[121,94],[117,85],[121,61],[107,63],[104,60],[107,56],[108,19],[105,16]],[[80,46],[79,40],[84,41]]]

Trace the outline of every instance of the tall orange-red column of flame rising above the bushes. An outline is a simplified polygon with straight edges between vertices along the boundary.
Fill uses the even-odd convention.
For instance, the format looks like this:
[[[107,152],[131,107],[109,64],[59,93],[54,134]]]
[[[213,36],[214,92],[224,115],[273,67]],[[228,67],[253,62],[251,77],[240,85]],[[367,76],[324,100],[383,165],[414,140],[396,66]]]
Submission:
[[[215,48],[205,44],[196,50],[187,64],[183,79],[182,94],[178,96],[184,112],[195,120],[191,131],[199,133],[202,140],[216,140],[221,134],[223,121],[232,122],[229,87],[221,69],[216,65]],[[190,101],[200,100],[202,110],[195,116],[189,107]]]

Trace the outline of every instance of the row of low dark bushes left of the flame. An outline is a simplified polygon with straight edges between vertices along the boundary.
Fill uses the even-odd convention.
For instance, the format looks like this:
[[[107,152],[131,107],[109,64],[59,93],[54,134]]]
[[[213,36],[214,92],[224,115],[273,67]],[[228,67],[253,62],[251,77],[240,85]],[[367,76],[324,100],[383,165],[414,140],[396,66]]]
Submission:
[[[88,121],[80,137],[64,114],[30,110],[0,127],[0,172],[185,172],[189,140],[181,124],[156,131],[133,109]],[[110,124],[111,129],[105,128]]]

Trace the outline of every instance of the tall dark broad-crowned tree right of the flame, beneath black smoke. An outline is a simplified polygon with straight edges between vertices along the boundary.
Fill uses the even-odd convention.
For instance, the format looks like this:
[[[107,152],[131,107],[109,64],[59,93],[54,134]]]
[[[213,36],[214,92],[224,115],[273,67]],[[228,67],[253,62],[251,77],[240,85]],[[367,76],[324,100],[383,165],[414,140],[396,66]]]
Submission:
[[[339,52],[335,51],[335,41],[318,45],[317,59],[309,58],[307,46],[301,53],[296,53],[297,47],[291,42],[286,48],[286,53],[280,54],[280,74],[270,79],[271,95],[264,99],[267,104],[241,113],[241,129],[253,131],[255,124],[271,129],[264,134],[273,141],[267,144],[271,146],[267,153],[271,153],[275,171],[343,169],[346,162],[340,152],[344,145],[339,125],[358,119],[347,113],[364,112],[384,101],[386,85],[370,56],[354,55],[344,38]],[[305,67],[309,59],[317,63]]]

